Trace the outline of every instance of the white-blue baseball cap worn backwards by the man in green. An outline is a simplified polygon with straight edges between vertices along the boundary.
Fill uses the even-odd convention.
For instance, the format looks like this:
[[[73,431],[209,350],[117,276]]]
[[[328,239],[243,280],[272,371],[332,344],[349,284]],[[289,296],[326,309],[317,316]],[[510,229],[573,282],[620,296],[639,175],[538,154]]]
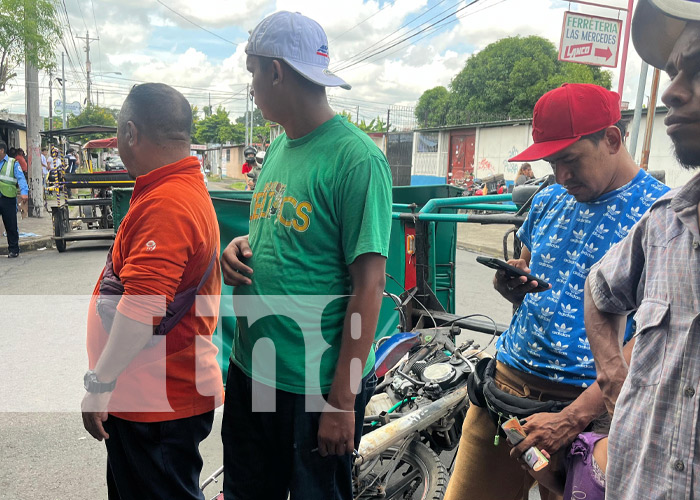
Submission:
[[[323,28],[298,12],[280,11],[267,16],[250,34],[245,51],[252,56],[281,59],[317,85],[350,90],[350,85],[328,69],[328,38]]]

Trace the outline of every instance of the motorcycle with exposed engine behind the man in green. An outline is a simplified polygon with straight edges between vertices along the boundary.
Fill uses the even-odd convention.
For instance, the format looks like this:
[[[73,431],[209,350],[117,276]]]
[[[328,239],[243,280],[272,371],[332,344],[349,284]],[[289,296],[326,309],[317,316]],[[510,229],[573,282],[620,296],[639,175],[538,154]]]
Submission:
[[[486,356],[473,340],[456,346],[465,318],[438,326],[428,316],[405,330],[407,304],[416,301],[415,289],[398,297],[387,292],[399,312],[401,333],[377,342],[375,393],[365,409],[362,440],[353,463],[355,500],[441,500],[449,470],[439,454],[459,444],[469,398],[467,378]],[[483,316],[483,315],[470,315]],[[493,324],[493,339],[502,327]],[[426,327],[425,321],[430,319]],[[483,330],[480,330],[483,331]],[[489,343],[490,345],[490,343]],[[220,467],[201,485],[218,482]],[[219,493],[212,500],[223,500]]]

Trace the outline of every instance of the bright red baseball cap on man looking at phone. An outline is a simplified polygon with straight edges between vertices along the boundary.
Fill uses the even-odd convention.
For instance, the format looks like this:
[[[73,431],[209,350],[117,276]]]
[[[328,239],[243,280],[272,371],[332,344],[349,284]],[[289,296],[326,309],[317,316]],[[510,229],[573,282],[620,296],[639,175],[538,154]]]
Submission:
[[[620,121],[620,95],[589,83],[565,83],[540,97],[532,114],[535,143],[508,161],[534,161]]]

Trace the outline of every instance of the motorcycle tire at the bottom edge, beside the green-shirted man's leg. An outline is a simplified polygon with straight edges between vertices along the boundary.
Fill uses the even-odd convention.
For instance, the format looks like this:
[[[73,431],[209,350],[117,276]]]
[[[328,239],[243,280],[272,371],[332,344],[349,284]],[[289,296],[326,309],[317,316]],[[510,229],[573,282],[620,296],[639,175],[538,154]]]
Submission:
[[[398,448],[382,453],[382,459],[391,460]],[[416,477],[416,474],[420,476]],[[408,478],[412,479],[409,481]],[[416,480],[420,479],[419,482]],[[391,476],[391,484],[384,485],[388,500],[442,500],[447,490],[449,475],[437,454],[425,444],[413,441],[401,457]],[[409,484],[404,484],[408,482]]]

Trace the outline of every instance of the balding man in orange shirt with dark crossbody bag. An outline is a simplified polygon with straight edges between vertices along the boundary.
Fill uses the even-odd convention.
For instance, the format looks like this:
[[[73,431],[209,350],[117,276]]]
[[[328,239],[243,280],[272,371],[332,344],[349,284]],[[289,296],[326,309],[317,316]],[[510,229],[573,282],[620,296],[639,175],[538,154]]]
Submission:
[[[132,88],[119,113],[119,155],[136,184],[90,303],[82,404],[85,428],[106,440],[110,499],[204,498],[199,443],[223,402],[211,342],[221,277],[191,125],[185,97],[160,83]],[[105,293],[115,283],[116,298]]]

